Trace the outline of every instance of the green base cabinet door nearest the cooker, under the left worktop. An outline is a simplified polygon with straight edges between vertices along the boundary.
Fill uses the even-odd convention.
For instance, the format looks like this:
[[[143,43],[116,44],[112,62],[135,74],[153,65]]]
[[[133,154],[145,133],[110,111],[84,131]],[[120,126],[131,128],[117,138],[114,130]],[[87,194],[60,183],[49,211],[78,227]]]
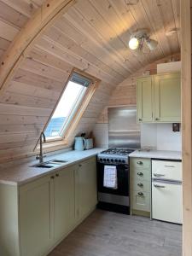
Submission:
[[[96,192],[96,158],[79,164],[79,219],[84,218],[97,203]]]

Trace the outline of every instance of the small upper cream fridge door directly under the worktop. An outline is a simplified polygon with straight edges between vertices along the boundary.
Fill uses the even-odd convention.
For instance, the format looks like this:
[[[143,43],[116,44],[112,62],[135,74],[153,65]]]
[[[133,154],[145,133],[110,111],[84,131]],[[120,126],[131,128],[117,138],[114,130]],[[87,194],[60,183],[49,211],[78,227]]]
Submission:
[[[182,181],[182,162],[152,160],[152,177]]]

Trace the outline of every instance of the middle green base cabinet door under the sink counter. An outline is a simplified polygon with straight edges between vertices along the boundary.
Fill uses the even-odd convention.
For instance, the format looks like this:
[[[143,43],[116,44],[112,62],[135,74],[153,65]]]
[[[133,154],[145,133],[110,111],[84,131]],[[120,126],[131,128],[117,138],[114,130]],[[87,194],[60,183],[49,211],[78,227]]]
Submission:
[[[55,241],[72,230],[75,224],[74,166],[55,175]]]

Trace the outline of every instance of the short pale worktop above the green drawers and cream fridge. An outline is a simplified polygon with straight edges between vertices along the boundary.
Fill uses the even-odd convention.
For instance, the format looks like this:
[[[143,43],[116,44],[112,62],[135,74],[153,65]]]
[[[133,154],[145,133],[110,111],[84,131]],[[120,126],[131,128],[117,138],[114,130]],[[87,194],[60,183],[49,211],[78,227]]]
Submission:
[[[168,150],[136,150],[129,154],[130,157],[141,157],[150,159],[166,159],[166,160],[182,160],[181,151],[168,151]]]

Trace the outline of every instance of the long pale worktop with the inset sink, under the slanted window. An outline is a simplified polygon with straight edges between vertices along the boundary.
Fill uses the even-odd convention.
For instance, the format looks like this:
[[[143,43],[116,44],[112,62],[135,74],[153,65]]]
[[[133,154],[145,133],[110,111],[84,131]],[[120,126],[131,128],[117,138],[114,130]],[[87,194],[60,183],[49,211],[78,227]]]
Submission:
[[[35,164],[38,164],[38,160],[33,160],[24,164],[17,166],[12,166],[9,168],[3,167],[0,169],[0,183],[10,184],[10,185],[21,185],[24,183],[31,182],[32,180],[37,179],[38,177],[44,177],[48,174],[51,174],[55,171],[63,169],[67,166],[71,166],[80,160],[86,160],[91,156],[94,156],[105,148],[93,148],[84,151],[68,151],[62,154],[54,154],[49,157],[44,158],[44,161],[49,161],[53,159],[68,160],[67,163],[62,163],[60,166],[52,168],[38,168],[31,167]]]

